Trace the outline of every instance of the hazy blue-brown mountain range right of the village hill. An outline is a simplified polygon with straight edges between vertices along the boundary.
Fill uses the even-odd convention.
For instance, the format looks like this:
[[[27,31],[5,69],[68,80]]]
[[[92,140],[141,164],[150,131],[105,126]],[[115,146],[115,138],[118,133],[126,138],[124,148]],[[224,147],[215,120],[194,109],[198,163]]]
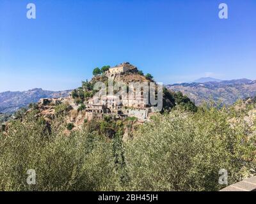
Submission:
[[[256,80],[252,81],[246,78],[221,82],[173,84],[166,85],[166,87],[172,91],[181,91],[195,101],[196,105],[211,99],[231,105],[237,99],[256,96]]]

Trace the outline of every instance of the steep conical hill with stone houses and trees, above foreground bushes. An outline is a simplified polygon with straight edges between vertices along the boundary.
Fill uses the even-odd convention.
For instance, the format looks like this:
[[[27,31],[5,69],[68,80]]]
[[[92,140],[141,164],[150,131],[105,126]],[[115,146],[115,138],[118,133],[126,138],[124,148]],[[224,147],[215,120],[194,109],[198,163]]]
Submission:
[[[98,83],[104,87],[100,91],[104,90],[105,94],[100,95],[100,91],[95,89]],[[111,91],[111,85],[115,87],[118,83],[127,85],[123,89],[124,94],[118,95],[120,89]],[[139,86],[131,88],[130,84]],[[149,85],[149,88],[141,88],[142,84]],[[156,89],[152,91],[150,85],[154,85]],[[152,98],[157,103],[152,103]],[[158,112],[170,111],[176,105],[192,111],[196,108],[186,96],[159,86],[152,75],[144,75],[136,66],[124,62],[114,67],[93,69],[93,78],[82,82],[81,87],[70,92],[68,97],[42,98],[38,103],[29,106],[26,114],[35,111],[33,115],[43,119],[49,126],[52,120],[61,115],[70,131],[81,129],[88,122],[96,124],[104,120],[140,124],[150,121],[152,115]]]

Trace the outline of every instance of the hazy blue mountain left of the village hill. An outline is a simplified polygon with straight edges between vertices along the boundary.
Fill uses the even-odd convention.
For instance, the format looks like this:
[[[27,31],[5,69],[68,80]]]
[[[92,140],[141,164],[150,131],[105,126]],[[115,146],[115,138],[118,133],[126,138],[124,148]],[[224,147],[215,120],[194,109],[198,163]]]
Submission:
[[[40,98],[59,98],[68,96],[70,91],[45,91],[31,89],[29,91],[0,92],[0,113],[12,113],[29,103],[38,102]]]

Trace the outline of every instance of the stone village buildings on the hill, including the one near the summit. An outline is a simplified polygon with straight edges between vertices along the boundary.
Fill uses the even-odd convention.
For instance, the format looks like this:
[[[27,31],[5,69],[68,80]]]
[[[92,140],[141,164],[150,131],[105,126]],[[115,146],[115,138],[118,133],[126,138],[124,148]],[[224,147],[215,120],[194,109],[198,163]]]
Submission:
[[[138,69],[129,62],[125,62],[109,68],[104,74],[106,77],[115,80],[115,77],[125,73],[138,73]],[[115,94],[108,94],[100,100],[90,98],[84,103],[86,105],[86,118],[89,120],[93,117],[102,118],[102,115],[107,114],[112,118],[136,117],[140,120],[147,120],[150,113],[156,112],[154,106],[148,104],[147,101],[148,99],[144,98],[143,90],[136,93],[135,89],[132,93],[127,93],[122,100],[119,100]]]

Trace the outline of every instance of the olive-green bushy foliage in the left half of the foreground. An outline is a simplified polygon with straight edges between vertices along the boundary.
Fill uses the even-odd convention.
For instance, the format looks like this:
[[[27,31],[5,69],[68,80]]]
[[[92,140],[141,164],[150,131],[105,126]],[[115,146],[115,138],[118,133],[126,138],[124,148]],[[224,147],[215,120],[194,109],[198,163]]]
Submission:
[[[54,126],[51,135],[35,122],[15,122],[0,133],[0,191],[112,191],[118,177],[112,142],[87,131],[70,136]],[[27,170],[36,171],[28,185]]]

